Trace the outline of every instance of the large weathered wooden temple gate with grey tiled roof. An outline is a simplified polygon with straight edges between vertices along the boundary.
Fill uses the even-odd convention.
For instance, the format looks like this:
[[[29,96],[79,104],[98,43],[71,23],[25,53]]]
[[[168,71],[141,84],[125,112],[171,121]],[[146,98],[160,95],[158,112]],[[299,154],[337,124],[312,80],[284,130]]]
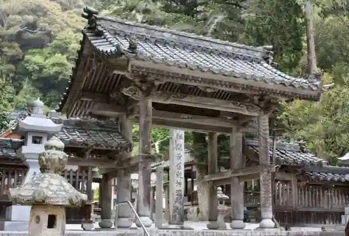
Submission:
[[[277,71],[269,47],[249,47],[112,19],[88,7],[82,15],[88,24],[59,111],[68,117],[113,119],[126,140],[132,140],[132,123],[140,124],[140,154],[132,156],[131,149],[124,149],[105,166],[100,226],[112,225],[106,183],[117,177],[118,200],[129,200],[130,175],[137,171],[138,214],[145,226],[151,226],[151,161],[158,160],[151,147],[151,126],[155,125],[209,133],[204,180],[210,186],[211,221],[217,219],[215,186],[231,184],[230,198],[238,209],[232,216],[232,228],[244,228],[240,183],[259,176],[260,226],[273,228],[270,196],[276,165],[269,158],[269,117],[279,101],[318,101],[326,89],[321,76],[292,78]],[[251,121],[258,126],[251,127]],[[258,131],[259,162],[246,167],[242,138],[251,129]],[[230,170],[223,174],[217,172],[218,133],[230,135]],[[117,225],[129,227],[130,209],[121,208]]]

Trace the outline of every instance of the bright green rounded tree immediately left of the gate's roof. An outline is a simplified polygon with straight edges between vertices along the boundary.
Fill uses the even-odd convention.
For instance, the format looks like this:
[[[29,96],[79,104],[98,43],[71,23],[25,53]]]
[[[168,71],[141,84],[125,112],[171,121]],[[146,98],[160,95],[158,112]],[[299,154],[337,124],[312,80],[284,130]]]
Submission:
[[[80,36],[63,31],[43,49],[31,49],[22,61],[22,71],[43,94],[46,105],[55,108],[66,89]],[[20,74],[20,71],[18,71]]]

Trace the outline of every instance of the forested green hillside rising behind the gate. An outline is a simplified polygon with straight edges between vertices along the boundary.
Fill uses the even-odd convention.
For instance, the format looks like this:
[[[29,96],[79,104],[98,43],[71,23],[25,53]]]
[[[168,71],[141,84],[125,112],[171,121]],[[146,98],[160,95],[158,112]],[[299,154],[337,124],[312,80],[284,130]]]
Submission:
[[[79,47],[84,5],[128,20],[248,45],[273,45],[275,66],[292,75],[305,73],[302,0],[0,0],[2,114],[26,109],[37,96],[47,109],[57,107]],[[277,123],[289,138],[304,140],[318,155],[335,160],[349,152],[349,4],[317,0],[313,6],[318,68],[324,82],[335,85],[318,103],[281,104]],[[6,117],[0,115],[0,129],[5,125]],[[154,142],[167,135],[156,129]],[[226,139],[221,139],[225,147]],[[188,135],[188,141],[205,146],[199,134]],[[161,142],[161,148],[167,144]],[[205,159],[198,152],[195,156]]]

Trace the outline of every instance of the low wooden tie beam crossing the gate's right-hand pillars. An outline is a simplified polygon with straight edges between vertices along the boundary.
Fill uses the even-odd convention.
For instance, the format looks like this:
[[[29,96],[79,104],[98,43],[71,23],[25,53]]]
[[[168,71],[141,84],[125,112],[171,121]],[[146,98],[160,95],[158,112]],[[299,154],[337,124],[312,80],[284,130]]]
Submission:
[[[268,165],[267,168],[271,168],[272,172],[275,171],[276,165]],[[242,177],[246,175],[253,175],[260,173],[262,171],[262,166],[252,166],[252,167],[245,167],[238,170],[228,170],[225,172],[218,172],[217,174],[213,175],[206,175],[203,180],[204,181],[216,181],[219,179],[228,179],[231,177]]]

